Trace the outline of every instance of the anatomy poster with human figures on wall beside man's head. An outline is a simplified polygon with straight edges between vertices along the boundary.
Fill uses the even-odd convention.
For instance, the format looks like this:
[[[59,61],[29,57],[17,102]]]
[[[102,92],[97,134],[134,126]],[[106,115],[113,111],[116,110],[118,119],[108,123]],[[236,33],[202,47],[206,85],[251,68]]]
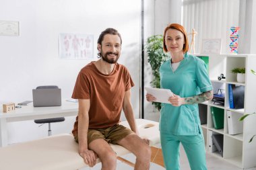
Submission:
[[[88,34],[60,34],[59,57],[61,59],[92,60],[94,56],[94,36]]]

